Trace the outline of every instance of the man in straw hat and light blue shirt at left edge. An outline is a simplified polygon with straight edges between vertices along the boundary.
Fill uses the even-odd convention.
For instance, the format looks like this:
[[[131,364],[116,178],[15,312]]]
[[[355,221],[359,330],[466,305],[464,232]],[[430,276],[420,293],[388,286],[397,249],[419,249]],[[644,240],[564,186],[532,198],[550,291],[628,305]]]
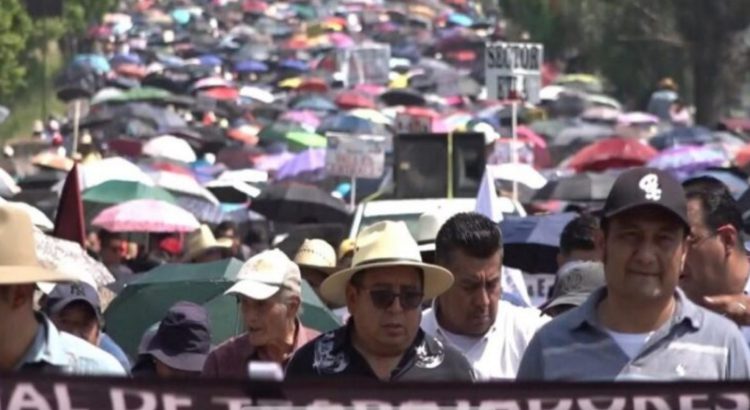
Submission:
[[[39,264],[28,215],[0,206],[0,238],[0,373],[125,375],[117,359],[34,311],[36,282],[74,279]]]

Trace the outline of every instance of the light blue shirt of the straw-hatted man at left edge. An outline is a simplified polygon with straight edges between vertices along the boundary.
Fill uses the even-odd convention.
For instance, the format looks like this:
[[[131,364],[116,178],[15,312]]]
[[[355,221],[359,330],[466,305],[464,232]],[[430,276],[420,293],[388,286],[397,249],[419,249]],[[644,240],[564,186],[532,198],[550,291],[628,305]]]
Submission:
[[[71,334],[60,332],[42,313],[39,330],[16,366],[16,371],[60,372],[77,375],[125,376],[122,365],[109,353]]]

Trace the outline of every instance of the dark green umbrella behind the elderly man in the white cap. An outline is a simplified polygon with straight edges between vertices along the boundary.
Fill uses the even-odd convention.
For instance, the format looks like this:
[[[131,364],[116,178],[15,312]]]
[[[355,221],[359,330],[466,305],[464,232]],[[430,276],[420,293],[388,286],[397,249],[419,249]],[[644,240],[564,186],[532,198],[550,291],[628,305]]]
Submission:
[[[204,304],[222,295],[234,283],[240,267],[239,260],[225,259],[161,265],[142,274],[128,283],[104,312],[107,334],[135,356],[143,332],[160,321],[172,305],[181,300]],[[221,317],[218,322],[232,317]],[[224,336],[214,333],[212,342],[217,344],[226,339]]]

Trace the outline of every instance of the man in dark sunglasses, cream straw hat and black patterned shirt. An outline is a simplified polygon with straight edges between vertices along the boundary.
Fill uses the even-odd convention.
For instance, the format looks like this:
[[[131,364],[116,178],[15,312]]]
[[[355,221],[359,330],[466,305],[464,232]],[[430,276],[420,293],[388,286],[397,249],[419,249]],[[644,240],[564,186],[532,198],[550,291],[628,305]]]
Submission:
[[[351,319],[298,350],[287,379],[472,381],[473,370],[461,353],[419,327],[422,302],[452,283],[446,269],[422,263],[403,222],[366,227],[357,237],[352,267],[320,287],[329,302],[348,307]]]

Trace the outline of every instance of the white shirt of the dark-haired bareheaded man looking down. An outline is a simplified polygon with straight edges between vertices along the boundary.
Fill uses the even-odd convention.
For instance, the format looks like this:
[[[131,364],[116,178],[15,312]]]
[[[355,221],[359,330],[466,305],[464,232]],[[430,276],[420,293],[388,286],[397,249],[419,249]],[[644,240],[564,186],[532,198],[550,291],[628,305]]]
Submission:
[[[538,309],[500,301],[497,317],[481,337],[452,334],[437,323],[435,304],[422,313],[422,330],[460,350],[471,363],[478,380],[515,379],[526,345],[537,329],[549,322]]]

